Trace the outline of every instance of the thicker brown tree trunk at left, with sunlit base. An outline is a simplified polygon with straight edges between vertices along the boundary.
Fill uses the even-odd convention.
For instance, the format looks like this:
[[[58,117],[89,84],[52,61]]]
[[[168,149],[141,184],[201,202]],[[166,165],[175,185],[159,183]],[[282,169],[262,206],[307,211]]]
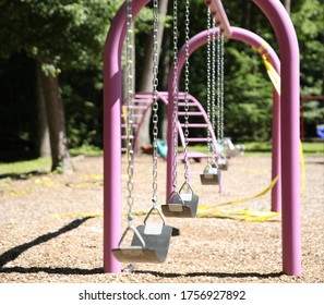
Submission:
[[[52,159],[52,171],[72,171],[72,163],[67,143],[65,117],[63,101],[59,90],[59,81],[41,73],[46,113],[48,118],[49,139]]]

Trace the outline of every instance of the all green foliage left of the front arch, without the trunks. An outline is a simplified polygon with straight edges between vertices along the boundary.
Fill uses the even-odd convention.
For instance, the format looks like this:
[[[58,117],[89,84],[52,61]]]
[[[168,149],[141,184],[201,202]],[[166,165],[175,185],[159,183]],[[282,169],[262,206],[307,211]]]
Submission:
[[[17,58],[27,54],[41,64],[45,74],[60,75],[70,147],[101,145],[103,49],[110,21],[121,2],[122,0],[0,0],[0,57],[9,58],[10,62],[12,54],[19,53],[15,56]],[[26,93],[22,91],[19,100],[17,90],[10,93],[14,83],[21,84],[22,76],[31,73],[31,69],[24,69],[23,65],[21,68],[23,72],[12,69],[17,74],[10,78],[8,91],[5,88],[2,98],[9,105],[15,105],[20,117],[23,117],[20,122],[25,122],[33,113],[34,117],[28,122],[36,125],[36,76],[29,75],[26,82],[28,88],[34,90],[35,96],[31,100],[34,102],[33,107],[26,102]],[[9,97],[14,100],[9,100]],[[16,106],[17,101],[23,107]],[[21,113],[24,106],[29,111],[28,117]],[[5,118],[9,122],[14,119],[12,115]],[[25,143],[24,150],[35,148],[35,144],[32,144],[35,135],[35,130],[21,127],[20,141]],[[16,136],[13,142],[19,142]],[[19,147],[16,143],[14,147]],[[25,156],[22,149],[17,152]]]

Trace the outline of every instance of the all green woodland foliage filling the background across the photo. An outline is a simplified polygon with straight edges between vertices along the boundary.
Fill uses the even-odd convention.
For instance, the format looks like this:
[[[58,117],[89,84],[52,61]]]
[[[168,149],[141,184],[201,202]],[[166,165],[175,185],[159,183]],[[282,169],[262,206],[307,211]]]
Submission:
[[[31,73],[33,71],[31,63],[26,63],[26,60],[16,60],[23,52],[40,61],[46,73],[60,76],[69,146],[73,148],[101,146],[104,41],[110,22],[122,2],[122,0],[0,0],[0,57],[11,57],[2,61],[4,62],[2,65],[0,64],[1,98],[4,100],[1,101],[0,131],[5,135],[10,131],[8,138],[12,141],[12,147],[19,147],[20,154],[23,154],[27,146],[28,149],[33,146],[35,127],[31,126],[31,122],[36,120],[36,95],[33,93],[32,82],[35,75]],[[184,42],[184,2],[178,2],[180,48]],[[271,24],[251,2],[250,0],[223,1],[223,4],[232,26],[257,33],[278,50]],[[190,5],[190,36],[193,36],[206,27],[206,8],[201,0],[191,0]],[[171,11],[172,1],[169,1],[169,16],[163,42],[165,56],[172,53]],[[291,19],[300,46],[301,94],[323,95],[323,1],[291,1]],[[135,23],[139,68],[136,84],[142,76],[143,59],[152,60],[146,57],[146,46],[142,38],[143,34],[151,30],[152,12],[145,8]],[[16,53],[21,54],[12,57]],[[160,63],[167,66],[170,61],[163,59]],[[16,69],[17,64],[23,71]],[[16,75],[9,77],[10,69],[11,73],[14,71]],[[167,72],[167,69],[159,71],[161,75]],[[26,75],[29,75],[27,81]],[[159,84],[159,89],[166,90],[164,87],[166,82]],[[183,86],[181,88],[183,89]],[[206,106],[206,48],[201,48],[191,57],[190,93]],[[268,141],[272,95],[272,84],[259,54],[242,42],[226,41],[225,134],[235,143]],[[304,107],[307,132],[314,134],[314,126],[323,123],[323,102],[308,101]],[[34,113],[31,114],[28,111]],[[9,112],[12,117],[9,117]],[[22,148],[16,145],[19,141],[24,143]]]

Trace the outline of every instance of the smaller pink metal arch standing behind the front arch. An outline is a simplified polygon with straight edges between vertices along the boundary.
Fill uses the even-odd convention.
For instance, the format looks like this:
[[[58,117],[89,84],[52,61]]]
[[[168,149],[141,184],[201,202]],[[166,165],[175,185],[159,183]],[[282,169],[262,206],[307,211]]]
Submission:
[[[211,29],[211,34],[213,34],[213,30],[216,33],[218,32],[218,28]],[[268,61],[273,64],[275,70],[280,73],[280,62],[279,59],[274,51],[274,49],[260,36],[256,34],[239,28],[239,27],[230,27],[230,33],[231,36],[229,37],[230,39],[236,39],[242,42],[245,42],[248,45],[251,45],[255,49],[260,49],[261,47],[263,48],[262,53],[267,56]],[[189,40],[189,51],[190,54],[192,54],[196,49],[200,47],[204,46],[207,44],[207,37],[208,37],[208,32],[203,30],[200,34],[193,36]],[[217,37],[217,35],[211,35],[211,37]],[[180,78],[180,74],[182,71],[182,68],[184,65],[184,60],[185,60],[185,49],[184,47],[179,51],[178,54],[178,80]],[[169,99],[172,96],[172,81],[173,81],[173,73],[170,71],[169,73]],[[171,99],[170,99],[171,100]],[[173,141],[173,132],[172,132],[172,108],[168,108],[168,149],[170,149],[168,154],[168,163],[167,163],[167,195],[172,192],[172,164],[173,164],[173,147],[170,145]],[[279,211],[280,210],[280,198],[281,198],[281,186],[280,186],[280,126],[279,126],[279,96],[278,94],[274,90],[274,106],[273,106],[273,164],[272,164],[272,178],[276,178],[279,175],[278,182],[272,190],[272,209]]]

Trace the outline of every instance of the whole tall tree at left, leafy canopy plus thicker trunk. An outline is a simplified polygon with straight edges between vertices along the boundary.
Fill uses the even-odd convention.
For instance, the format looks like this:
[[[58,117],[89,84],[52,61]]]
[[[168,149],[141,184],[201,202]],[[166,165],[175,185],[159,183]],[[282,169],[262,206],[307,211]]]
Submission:
[[[24,50],[39,63],[52,170],[72,169],[59,75],[70,68],[101,64],[108,21],[117,4],[109,0],[0,1],[1,54]]]

